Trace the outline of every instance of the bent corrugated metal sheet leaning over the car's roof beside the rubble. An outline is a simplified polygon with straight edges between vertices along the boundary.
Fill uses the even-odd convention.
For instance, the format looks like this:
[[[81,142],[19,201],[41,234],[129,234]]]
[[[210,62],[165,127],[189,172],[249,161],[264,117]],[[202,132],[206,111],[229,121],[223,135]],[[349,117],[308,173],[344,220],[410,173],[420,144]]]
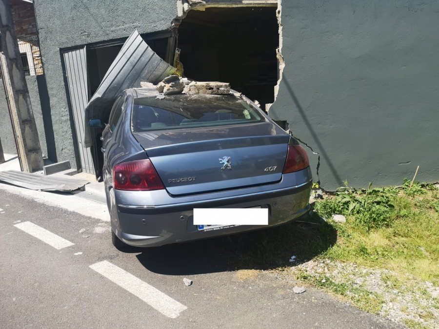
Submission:
[[[160,58],[134,31],[125,41],[116,59],[111,64],[96,93],[85,110],[84,125],[101,118],[103,111],[109,111],[116,97],[125,89],[140,87],[140,81],[159,83],[175,72],[175,68]],[[85,146],[95,140],[94,131],[86,129]]]

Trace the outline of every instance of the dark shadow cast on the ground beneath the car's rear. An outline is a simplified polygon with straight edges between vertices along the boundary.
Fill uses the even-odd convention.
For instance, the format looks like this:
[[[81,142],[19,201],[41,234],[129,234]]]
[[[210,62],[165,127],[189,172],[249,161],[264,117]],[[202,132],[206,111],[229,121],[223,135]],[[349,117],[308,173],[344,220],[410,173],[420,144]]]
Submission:
[[[268,270],[290,266],[289,259],[309,260],[337,241],[337,232],[326,223],[293,222],[257,232],[174,244],[159,248],[133,249],[149,271],[166,275],[191,275],[241,269]]]

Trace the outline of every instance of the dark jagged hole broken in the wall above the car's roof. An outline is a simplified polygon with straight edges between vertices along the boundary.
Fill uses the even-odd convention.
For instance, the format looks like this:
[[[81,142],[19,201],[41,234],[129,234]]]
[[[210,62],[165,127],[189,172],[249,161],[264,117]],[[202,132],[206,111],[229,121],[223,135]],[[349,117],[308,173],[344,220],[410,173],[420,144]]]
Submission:
[[[276,7],[191,10],[179,27],[184,75],[198,81],[230,82],[261,108],[274,101],[279,65]]]

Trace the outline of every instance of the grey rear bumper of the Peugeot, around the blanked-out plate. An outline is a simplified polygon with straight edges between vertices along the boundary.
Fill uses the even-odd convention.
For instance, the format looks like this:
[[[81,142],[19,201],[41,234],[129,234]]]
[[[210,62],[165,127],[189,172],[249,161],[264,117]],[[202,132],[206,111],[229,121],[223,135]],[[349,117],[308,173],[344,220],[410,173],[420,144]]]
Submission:
[[[299,218],[309,209],[308,201],[312,186],[311,173],[309,169],[302,172],[302,178],[307,179],[305,182],[302,180],[299,185],[291,185],[291,180],[294,180],[293,176],[295,175],[297,178],[298,175],[298,173],[293,173],[284,175],[278,184],[241,189],[238,190],[239,193],[237,190],[226,191],[224,192],[226,195],[215,193],[180,198],[171,197],[171,199],[166,200],[166,203],[161,204],[160,202],[148,203],[147,199],[152,197],[151,192],[115,191],[115,203],[111,210],[112,230],[123,242],[129,245],[157,247],[281,225]],[[271,187],[271,189],[267,189],[267,187]],[[129,194],[133,195],[130,197]],[[144,194],[143,203],[138,202],[139,194]],[[188,198],[192,198],[192,200],[188,200]],[[131,204],[126,202],[128,200],[131,200]],[[194,208],[237,209],[255,206],[267,209],[268,226],[241,225],[204,232],[198,231],[197,226],[194,225]]]

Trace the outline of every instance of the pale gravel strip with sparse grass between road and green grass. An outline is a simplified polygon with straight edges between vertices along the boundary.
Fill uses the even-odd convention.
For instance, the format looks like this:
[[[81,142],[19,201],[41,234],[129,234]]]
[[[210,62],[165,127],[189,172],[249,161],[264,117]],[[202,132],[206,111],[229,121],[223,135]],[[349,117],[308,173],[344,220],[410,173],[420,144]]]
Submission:
[[[297,284],[312,284],[323,290],[335,291],[357,306],[375,303],[380,308],[379,315],[396,323],[411,328],[439,329],[439,288],[408,273],[401,276],[355,263],[311,260],[275,275],[279,274],[289,280],[302,277],[303,282],[299,279]],[[339,287],[346,289],[340,290]]]

